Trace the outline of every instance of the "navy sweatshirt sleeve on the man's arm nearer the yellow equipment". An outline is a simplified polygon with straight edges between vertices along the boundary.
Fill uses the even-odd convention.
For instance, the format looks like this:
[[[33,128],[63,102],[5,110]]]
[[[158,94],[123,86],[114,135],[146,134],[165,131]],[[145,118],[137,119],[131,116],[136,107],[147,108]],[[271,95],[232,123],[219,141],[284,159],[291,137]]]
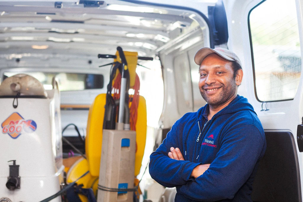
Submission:
[[[189,180],[192,180],[190,178],[191,171],[200,164],[178,161],[168,157],[170,147],[178,147],[181,152],[183,151],[182,132],[177,130],[177,125],[176,122],[162,144],[150,155],[149,173],[154,180],[165,187],[186,184]],[[183,152],[182,155],[184,157]]]

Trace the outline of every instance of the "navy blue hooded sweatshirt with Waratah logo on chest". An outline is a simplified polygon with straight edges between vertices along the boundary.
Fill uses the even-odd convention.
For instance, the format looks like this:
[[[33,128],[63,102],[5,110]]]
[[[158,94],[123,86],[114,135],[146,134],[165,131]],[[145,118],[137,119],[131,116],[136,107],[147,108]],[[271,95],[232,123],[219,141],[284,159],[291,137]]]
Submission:
[[[165,187],[176,187],[175,201],[252,201],[252,182],[266,150],[263,127],[246,98],[237,96],[207,120],[209,106],[175,122],[150,156],[149,173]],[[178,147],[185,161],[168,157]],[[200,164],[210,164],[197,178]]]

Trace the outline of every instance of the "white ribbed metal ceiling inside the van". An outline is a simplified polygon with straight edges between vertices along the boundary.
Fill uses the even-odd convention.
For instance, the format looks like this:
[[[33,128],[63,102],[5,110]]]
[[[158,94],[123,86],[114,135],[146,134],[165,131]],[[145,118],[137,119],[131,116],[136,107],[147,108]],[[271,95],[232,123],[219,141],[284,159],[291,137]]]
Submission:
[[[91,68],[117,46],[153,57],[201,35],[203,23],[194,12],[117,0],[0,1],[0,68]]]

